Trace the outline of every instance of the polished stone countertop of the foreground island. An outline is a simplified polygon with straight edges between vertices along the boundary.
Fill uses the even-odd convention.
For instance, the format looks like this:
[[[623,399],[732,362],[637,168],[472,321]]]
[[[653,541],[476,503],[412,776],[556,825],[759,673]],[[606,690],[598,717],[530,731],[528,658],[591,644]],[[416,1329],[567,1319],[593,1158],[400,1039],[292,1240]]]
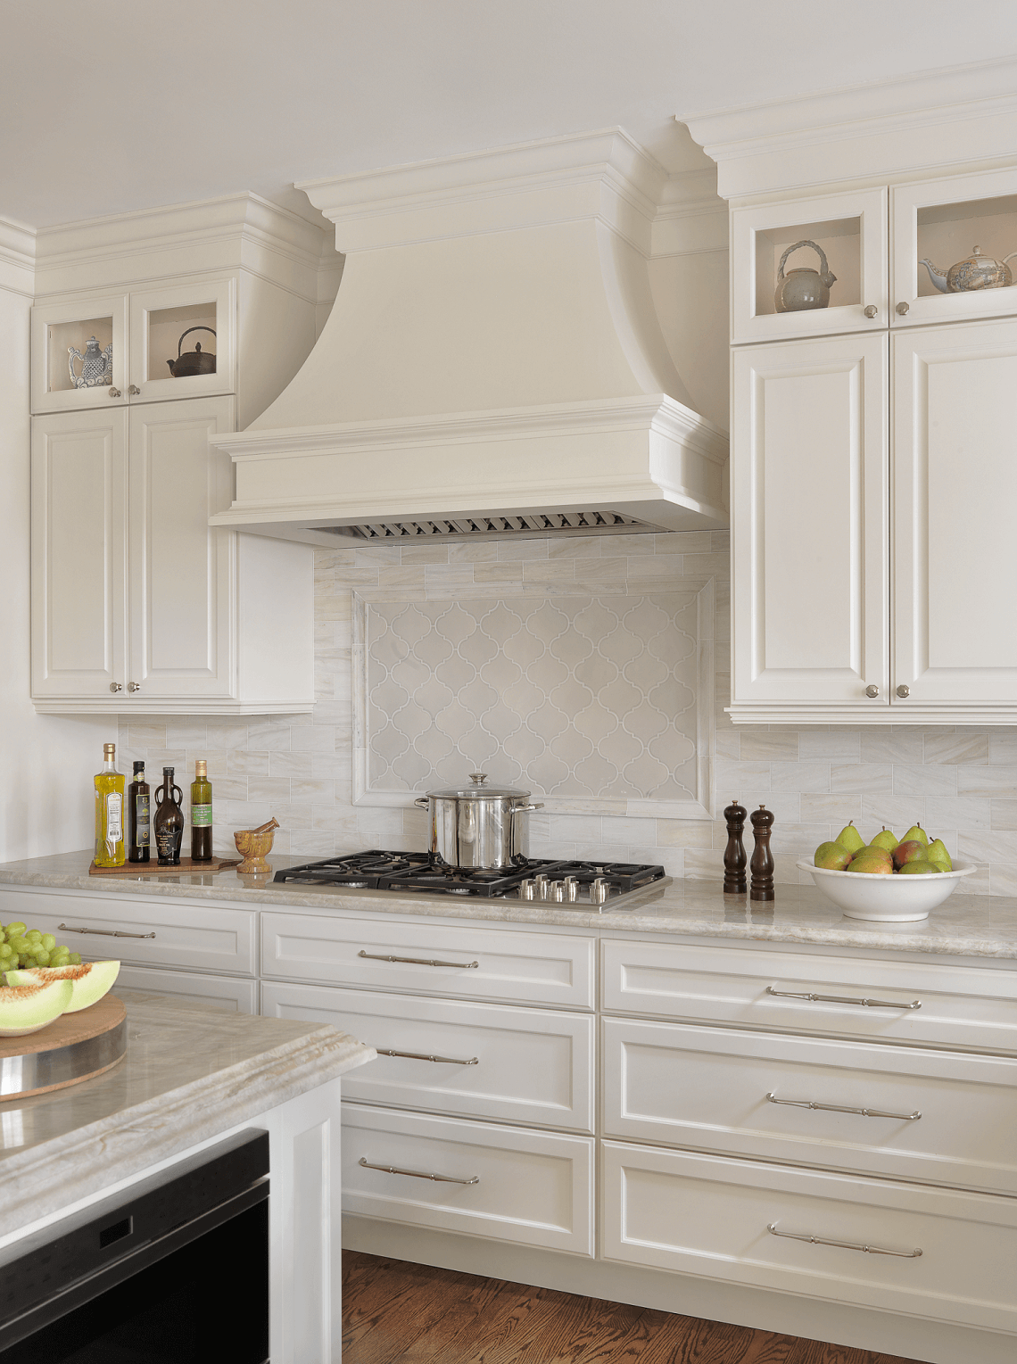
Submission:
[[[116,989],[127,1054],[80,1084],[0,1102],[0,1237],[324,1084],[376,1052],[331,1024]]]

